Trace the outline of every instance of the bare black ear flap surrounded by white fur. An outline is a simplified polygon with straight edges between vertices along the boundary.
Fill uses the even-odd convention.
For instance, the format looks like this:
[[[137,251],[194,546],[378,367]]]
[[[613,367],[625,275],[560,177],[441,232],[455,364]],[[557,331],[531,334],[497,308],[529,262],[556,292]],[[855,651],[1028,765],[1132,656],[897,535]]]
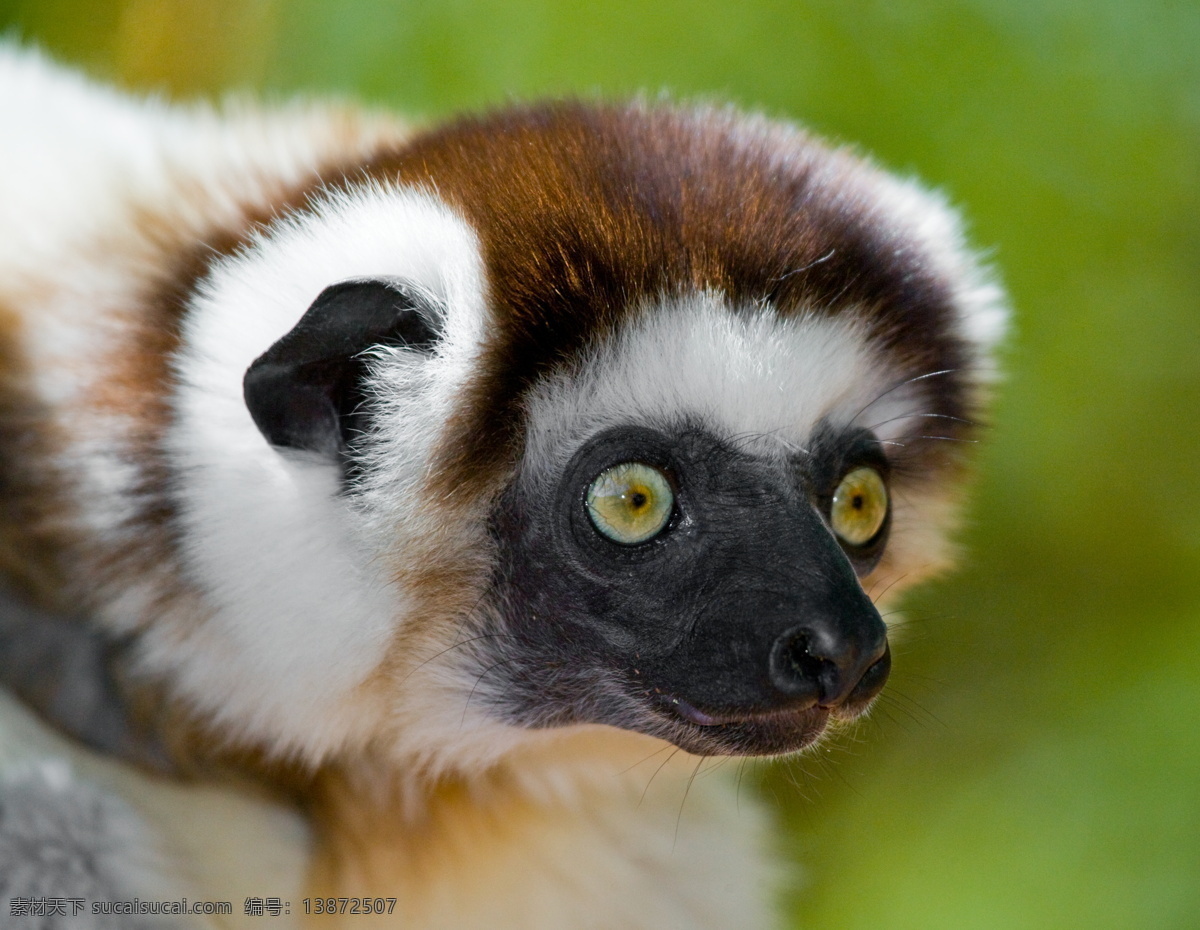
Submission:
[[[271,445],[338,457],[361,426],[372,346],[430,352],[430,307],[403,281],[343,281],[320,292],[288,335],[246,370],[250,415]]]

